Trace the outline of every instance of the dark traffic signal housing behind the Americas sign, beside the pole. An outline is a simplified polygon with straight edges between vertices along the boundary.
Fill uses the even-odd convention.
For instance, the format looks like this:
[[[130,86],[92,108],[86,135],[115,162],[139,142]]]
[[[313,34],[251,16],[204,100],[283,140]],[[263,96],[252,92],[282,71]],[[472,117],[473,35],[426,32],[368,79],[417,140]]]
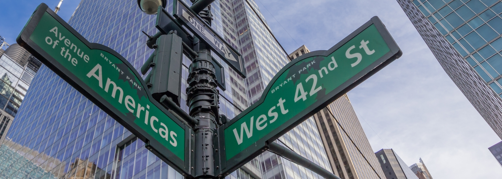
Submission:
[[[171,33],[151,37],[149,41],[155,39],[156,43],[152,45],[155,51],[141,67],[141,73],[145,75],[152,69],[145,78],[145,83],[155,100],[159,101],[162,96],[167,95],[180,106],[182,39]]]

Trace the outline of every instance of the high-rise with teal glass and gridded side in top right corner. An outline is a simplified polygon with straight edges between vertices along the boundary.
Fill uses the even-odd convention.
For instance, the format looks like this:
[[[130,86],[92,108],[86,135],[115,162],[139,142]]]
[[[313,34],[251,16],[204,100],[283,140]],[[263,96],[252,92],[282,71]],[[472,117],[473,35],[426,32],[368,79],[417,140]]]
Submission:
[[[502,3],[397,1],[448,76],[502,139]]]

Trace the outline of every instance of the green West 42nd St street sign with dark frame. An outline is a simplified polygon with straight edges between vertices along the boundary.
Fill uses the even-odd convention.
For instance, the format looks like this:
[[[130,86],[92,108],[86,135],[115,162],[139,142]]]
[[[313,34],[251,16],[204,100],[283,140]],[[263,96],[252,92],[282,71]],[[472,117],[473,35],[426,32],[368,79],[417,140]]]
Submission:
[[[378,17],[326,51],[287,64],[261,99],[218,129],[221,173],[226,175],[402,55]]]

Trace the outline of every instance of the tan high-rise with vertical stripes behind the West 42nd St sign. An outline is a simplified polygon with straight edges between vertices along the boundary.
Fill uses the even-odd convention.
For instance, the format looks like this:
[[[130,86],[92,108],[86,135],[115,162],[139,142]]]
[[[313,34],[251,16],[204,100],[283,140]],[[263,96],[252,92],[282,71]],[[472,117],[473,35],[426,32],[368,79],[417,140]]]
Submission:
[[[292,60],[309,52],[310,50],[303,45],[289,54],[288,57]],[[317,124],[317,129],[334,174],[342,179],[379,178],[379,176],[384,176],[382,168],[379,167],[378,159],[374,156],[368,138],[346,94],[312,117]],[[341,126],[338,125],[337,121],[340,122]],[[342,127],[345,131],[342,130]]]

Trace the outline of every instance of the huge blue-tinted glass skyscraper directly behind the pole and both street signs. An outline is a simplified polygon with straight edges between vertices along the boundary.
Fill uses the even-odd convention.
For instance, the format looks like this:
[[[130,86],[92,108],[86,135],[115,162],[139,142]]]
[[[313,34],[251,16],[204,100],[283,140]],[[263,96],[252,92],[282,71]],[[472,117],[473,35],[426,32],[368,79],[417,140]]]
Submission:
[[[187,4],[191,4],[186,1]],[[173,1],[166,10],[172,12]],[[238,49],[247,78],[225,68],[226,91],[220,89],[220,114],[233,118],[261,96],[284,65],[287,55],[262,23],[254,1],[217,0],[212,22],[225,41]],[[153,53],[146,47],[156,16],[143,13],[135,0],[83,0],[69,24],[89,42],[108,46],[138,70]],[[190,60],[183,57],[186,81]],[[182,84],[182,89],[187,85]],[[184,90],[181,90],[184,91]],[[181,107],[187,111],[186,95]],[[114,119],[50,69],[42,66],[33,79],[6,140],[0,146],[0,178],[182,178]],[[279,141],[329,170],[315,122],[308,119]],[[265,152],[227,178],[321,178],[289,160]]]

